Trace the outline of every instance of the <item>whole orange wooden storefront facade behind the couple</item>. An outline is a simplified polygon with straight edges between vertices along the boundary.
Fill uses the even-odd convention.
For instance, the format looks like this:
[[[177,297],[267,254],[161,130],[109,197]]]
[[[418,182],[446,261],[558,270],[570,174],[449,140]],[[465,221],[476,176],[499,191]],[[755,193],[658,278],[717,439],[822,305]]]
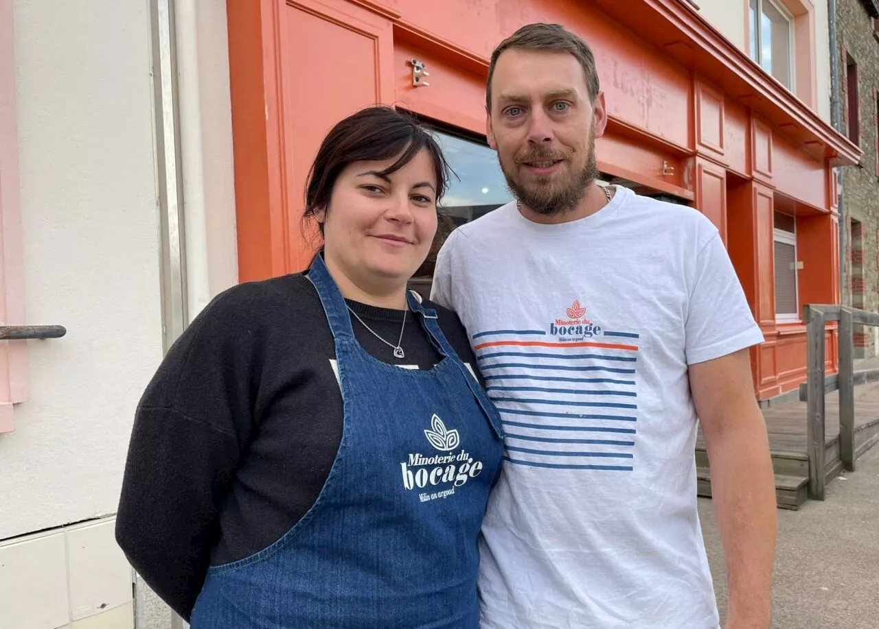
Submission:
[[[790,221],[796,309],[839,303],[833,167],[860,152],[683,0],[228,0],[228,13],[241,281],[308,264],[303,186],[334,123],[395,105],[483,150],[492,48],[520,25],[556,22],[596,54],[610,114],[602,178],[705,213],[766,337],[752,352],[759,397],[805,380],[805,326],[776,308],[774,231]],[[467,203],[468,216],[491,206]]]

